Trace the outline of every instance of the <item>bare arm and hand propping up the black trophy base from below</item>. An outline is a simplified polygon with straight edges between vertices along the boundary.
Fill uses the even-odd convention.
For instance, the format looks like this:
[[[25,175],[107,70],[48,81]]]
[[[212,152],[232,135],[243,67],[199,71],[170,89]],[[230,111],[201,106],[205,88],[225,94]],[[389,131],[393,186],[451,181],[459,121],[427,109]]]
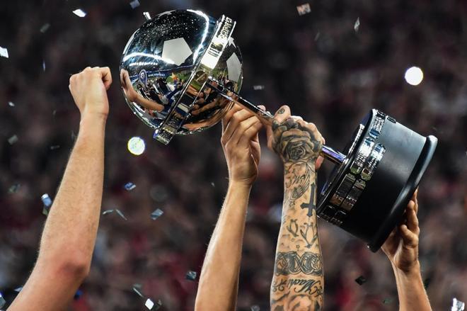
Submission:
[[[389,235],[382,247],[391,266],[399,296],[399,310],[431,311],[423,286],[420,262],[418,261],[418,200],[415,191],[405,210],[405,221]]]

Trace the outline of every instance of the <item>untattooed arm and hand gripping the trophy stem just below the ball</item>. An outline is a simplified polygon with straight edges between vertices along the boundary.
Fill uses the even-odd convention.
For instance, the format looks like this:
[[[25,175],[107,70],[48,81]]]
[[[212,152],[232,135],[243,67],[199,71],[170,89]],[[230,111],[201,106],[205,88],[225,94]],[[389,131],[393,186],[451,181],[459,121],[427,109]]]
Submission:
[[[222,127],[229,191],[207,248],[195,310],[236,310],[248,197],[260,161],[258,118],[236,106],[226,114]]]

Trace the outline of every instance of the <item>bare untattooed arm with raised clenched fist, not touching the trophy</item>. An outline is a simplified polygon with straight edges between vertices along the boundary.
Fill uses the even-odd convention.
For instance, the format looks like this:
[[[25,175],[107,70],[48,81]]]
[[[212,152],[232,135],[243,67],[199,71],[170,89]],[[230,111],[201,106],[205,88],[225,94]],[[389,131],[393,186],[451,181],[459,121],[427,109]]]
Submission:
[[[66,310],[91,265],[103,191],[106,88],[110,71],[85,69],[70,79],[81,111],[76,144],[47,216],[38,260],[10,311]]]

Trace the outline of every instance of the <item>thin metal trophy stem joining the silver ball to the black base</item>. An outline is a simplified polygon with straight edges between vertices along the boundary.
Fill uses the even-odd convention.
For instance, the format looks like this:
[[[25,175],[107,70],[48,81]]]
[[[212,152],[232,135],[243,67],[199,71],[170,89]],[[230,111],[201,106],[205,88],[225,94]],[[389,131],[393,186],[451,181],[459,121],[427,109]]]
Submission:
[[[272,119],[274,118],[274,115],[272,115],[272,113],[270,113],[269,111],[263,111],[263,109],[259,108],[254,103],[251,103],[250,101],[247,101],[245,98],[241,97],[235,92],[226,89],[226,87],[224,87],[222,84],[219,84],[212,78],[207,79],[207,84],[209,84],[209,86],[212,89],[215,89],[217,92],[219,92],[219,94],[224,98],[229,99],[229,101],[233,101],[233,103],[238,103],[243,108],[246,108],[252,113],[255,113],[255,115],[263,121],[263,123],[266,123],[268,125],[272,124]],[[323,147],[321,148],[320,155],[325,159],[330,160],[330,162],[333,162],[334,164],[338,165],[342,164],[342,162],[344,162],[345,160],[345,154],[335,151],[333,148],[325,145],[323,145]]]

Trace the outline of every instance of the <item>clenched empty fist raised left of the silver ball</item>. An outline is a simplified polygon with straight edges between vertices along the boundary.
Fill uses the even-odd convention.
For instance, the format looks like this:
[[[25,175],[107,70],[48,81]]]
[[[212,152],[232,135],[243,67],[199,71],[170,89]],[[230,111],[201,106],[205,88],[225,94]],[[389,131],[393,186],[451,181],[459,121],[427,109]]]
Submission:
[[[107,117],[109,102],[107,90],[112,84],[109,67],[86,67],[70,77],[69,89],[81,118],[86,115]]]

